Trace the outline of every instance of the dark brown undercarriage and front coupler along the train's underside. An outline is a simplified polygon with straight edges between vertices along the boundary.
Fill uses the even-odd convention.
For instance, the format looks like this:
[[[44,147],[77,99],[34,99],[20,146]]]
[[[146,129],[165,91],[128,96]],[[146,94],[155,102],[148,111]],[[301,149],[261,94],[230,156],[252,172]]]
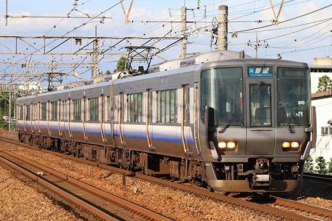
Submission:
[[[22,133],[19,133],[19,139],[25,144],[41,149],[117,165],[146,175],[168,175],[180,180],[195,180],[206,186],[209,191],[294,191],[302,184],[304,162],[275,163],[272,158],[251,158],[245,163],[203,163],[185,158]]]

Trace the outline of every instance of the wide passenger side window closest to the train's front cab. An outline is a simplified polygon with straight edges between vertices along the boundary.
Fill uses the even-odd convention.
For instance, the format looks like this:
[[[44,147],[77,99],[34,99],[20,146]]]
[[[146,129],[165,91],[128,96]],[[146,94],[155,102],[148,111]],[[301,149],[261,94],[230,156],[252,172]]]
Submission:
[[[157,113],[156,122],[178,123],[178,90],[156,91]]]

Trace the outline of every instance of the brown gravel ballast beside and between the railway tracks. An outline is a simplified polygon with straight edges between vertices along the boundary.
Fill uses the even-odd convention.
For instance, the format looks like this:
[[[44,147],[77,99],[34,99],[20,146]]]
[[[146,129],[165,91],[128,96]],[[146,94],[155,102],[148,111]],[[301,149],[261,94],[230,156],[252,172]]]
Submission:
[[[16,154],[35,160],[67,174],[82,182],[89,183],[121,198],[128,199],[148,209],[157,211],[175,220],[282,220],[259,211],[229,205],[208,197],[192,195],[181,190],[174,190],[136,177],[126,177],[122,184],[122,174],[82,165],[51,154],[41,154],[13,145],[0,145]],[[77,220],[75,214],[66,211],[57,202],[29,187],[0,167],[0,220]],[[298,201],[332,208],[331,197],[327,195],[327,184],[317,186],[315,182],[304,180],[304,186],[289,197]],[[134,192],[137,188],[137,192]],[[330,193],[332,194],[332,193]],[[311,197],[308,197],[311,196]]]

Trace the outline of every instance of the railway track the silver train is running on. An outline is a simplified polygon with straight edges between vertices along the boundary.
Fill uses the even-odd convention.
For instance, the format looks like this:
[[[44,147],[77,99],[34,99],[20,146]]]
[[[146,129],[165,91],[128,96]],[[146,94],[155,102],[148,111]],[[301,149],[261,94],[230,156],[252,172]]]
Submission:
[[[4,138],[4,139],[7,139],[7,138]],[[16,143],[16,144],[22,145],[22,143]],[[31,148],[31,146],[28,146],[28,147]],[[52,152],[52,154],[54,154],[54,152]],[[64,157],[63,154],[58,154],[58,155],[61,157]],[[98,164],[96,162],[92,162],[92,161],[87,162],[86,160],[82,160],[79,158],[73,158],[71,156],[65,155],[65,157],[69,157],[69,158],[72,158],[72,159],[75,159],[77,161],[81,161],[84,163],[89,163],[89,164],[94,164],[94,165]],[[121,169],[110,167],[108,165],[100,165],[100,166],[107,168],[107,169],[115,170],[118,172],[123,172],[123,170],[121,170]],[[219,193],[207,192],[205,189],[198,189],[195,187],[178,184],[175,182],[170,182],[168,180],[162,180],[162,179],[155,178],[155,177],[145,176],[145,175],[142,175],[139,173],[133,174],[130,171],[125,171],[125,172],[129,175],[135,175],[136,177],[140,177],[140,178],[143,178],[143,179],[146,179],[149,181],[159,182],[159,183],[162,183],[162,184],[165,184],[168,186],[173,186],[175,188],[184,189],[184,190],[190,191],[192,193],[206,195],[206,196],[213,197],[213,198],[216,198],[216,199],[224,201],[224,202],[251,208],[251,209],[253,209],[253,211],[262,211],[264,213],[275,214],[277,217],[280,217],[280,218],[286,218],[286,219],[291,219],[291,220],[329,220],[331,218],[331,214],[332,214],[331,209],[321,208],[318,206],[300,203],[300,202],[296,202],[296,201],[292,201],[292,200],[288,200],[288,199],[282,199],[282,198],[277,198],[277,197],[273,197],[273,196],[269,196],[269,197],[264,196],[264,197],[262,197],[261,200],[255,199],[256,202],[251,202],[251,201],[245,201],[245,200],[235,198],[235,197],[221,195]]]

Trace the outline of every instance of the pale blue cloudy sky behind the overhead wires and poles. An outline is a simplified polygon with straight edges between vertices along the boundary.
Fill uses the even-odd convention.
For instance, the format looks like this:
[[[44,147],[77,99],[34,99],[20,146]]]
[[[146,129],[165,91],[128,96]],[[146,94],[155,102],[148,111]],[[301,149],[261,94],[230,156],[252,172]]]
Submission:
[[[73,10],[73,3],[77,3]],[[0,19],[2,36],[82,36],[93,37],[180,37],[181,7],[186,4],[188,44],[187,53],[200,53],[215,50],[215,45],[210,45],[211,25],[214,18],[218,19],[218,6],[228,6],[228,50],[244,52],[254,57],[254,43],[260,40],[258,57],[275,58],[279,53],[282,59],[295,60],[313,64],[315,57],[332,56],[332,6],[330,0],[285,0],[280,11],[279,25],[271,23],[274,19],[273,9],[269,0],[228,0],[208,1],[201,0],[200,10],[196,8],[196,0],[187,1],[142,1],[134,0],[129,14],[129,20],[133,23],[125,25],[125,16],[119,1],[109,0],[57,0],[57,1],[18,1],[8,0],[8,15],[29,16],[27,18],[8,18],[5,25],[5,3],[0,5]],[[272,1],[277,15],[281,0]],[[124,0],[123,5],[128,13],[131,0]],[[319,10],[323,7],[325,9]],[[195,10],[190,10],[195,9]],[[205,11],[203,11],[205,9]],[[73,11],[72,11],[73,10]],[[314,12],[318,10],[317,12]],[[70,17],[90,18],[60,18],[69,13]],[[106,17],[104,24],[99,18]],[[20,16],[16,16],[20,17]],[[35,18],[44,17],[44,18]],[[54,18],[47,18],[54,17]],[[255,21],[261,20],[258,23]],[[147,21],[142,23],[141,21]],[[195,23],[194,23],[195,22]],[[82,25],[87,23],[86,25]],[[97,27],[97,28],[96,28]],[[237,38],[231,38],[231,33],[236,32]],[[3,42],[2,42],[3,41]],[[248,44],[248,42],[250,43]],[[265,42],[264,42],[265,41]],[[114,53],[125,53],[124,46],[130,44],[139,46],[145,41],[131,40],[124,42],[113,49]],[[163,48],[174,41],[156,42],[155,47]],[[6,44],[0,39],[0,43]],[[116,41],[103,42],[104,47],[114,45]],[[56,42],[54,46],[56,46]],[[181,44],[175,44],[172,48],[159,54],[167,60],[177,59],[180,56]],[[212,46],[212,47],[211,47]],[[21,49],[19,49],[21,50]],[[27,50],[27,49],[25,49]],[[64,51],[67,49],[63,49]],[[4,47],[0,46],[0,52]],[[24,50],[22,49],[22,53]],[[1,60],[7,59],[16,62],[22,59],[20,56],[1,54]],[[117,55],[104,57],[99,66],[105,72],[113,71],[116,67]],[[34,59],[37,59],[36,56]],[[48,57],[39,58],[48,60]],[[59,58],[57,58],[59,59]],[[62,59],[66,59],[63,56]],[[70,59],[67,57],[67,59]],[[74,60],[73,58],[71,58]],[[76,58],[75,58],[76,59]],[[153,58],[151,64],[159,63],[160,58]],[[79,59],[77,59],[79,62]],[[4,64],[0,64],[5,66]],[[18,71],[18,70],[16,70]],[[0,71],[3,73],[3,71]],[[82,75],[88,78],[89,75]]]

